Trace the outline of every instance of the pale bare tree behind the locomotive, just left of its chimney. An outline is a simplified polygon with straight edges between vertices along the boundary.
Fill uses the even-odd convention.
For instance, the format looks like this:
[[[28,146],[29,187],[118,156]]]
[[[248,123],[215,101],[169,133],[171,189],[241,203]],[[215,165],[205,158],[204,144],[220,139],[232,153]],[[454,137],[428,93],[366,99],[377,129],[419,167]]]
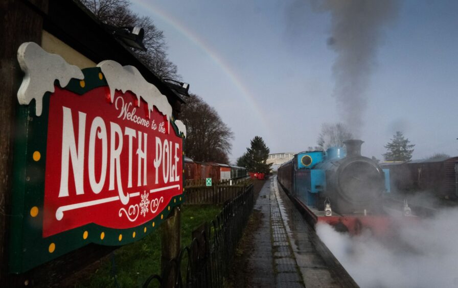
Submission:
[[[317,144],[323,149],[327,150],[333,146],[344,146],[344,141],[353,138],[353,134],[342,123],[330,124],[324,123],[319,133]]]

